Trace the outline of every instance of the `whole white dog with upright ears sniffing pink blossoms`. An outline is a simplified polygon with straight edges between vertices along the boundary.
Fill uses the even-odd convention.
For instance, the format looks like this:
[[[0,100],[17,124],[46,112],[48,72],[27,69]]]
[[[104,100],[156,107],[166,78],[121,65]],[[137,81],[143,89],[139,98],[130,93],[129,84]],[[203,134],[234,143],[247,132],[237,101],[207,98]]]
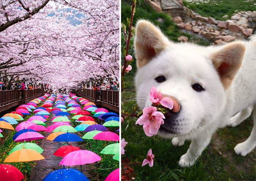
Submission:
[[[209,47],[174,43],[159,28],[140,20],[135,54],[139,107],[151,106],[148,95],[153,85],[180,104],[180,111],[167,111],[158,135],[173,138],[178,146],[191,140],[180,158],[182,167],[193,165],[218,128],[237,126],[256,106],[255,39]],[[249,138],[234,148],[242,156],[256,146],[256,112],[253,120]]]

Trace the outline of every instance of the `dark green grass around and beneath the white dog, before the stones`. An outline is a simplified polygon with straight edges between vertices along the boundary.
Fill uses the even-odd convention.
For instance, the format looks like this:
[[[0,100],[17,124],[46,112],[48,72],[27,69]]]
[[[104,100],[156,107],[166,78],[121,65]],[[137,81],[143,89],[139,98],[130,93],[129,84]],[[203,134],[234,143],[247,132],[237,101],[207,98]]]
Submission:
[[[122,1],[122,22],[126,22],[126,18],[130,16],[130,5],[130,1]],[[164,19],[164,23],[157,22],[158,18]],[[148,19],[157,24],[165,35],[173,41],[176,41],[178,36],[183,35],[170,21],[169,16],[154,12],[144,1],[138,2],[133,24],[138,19]],[[208,42],[196,39],[194,36],[189,36],[189,41],[208,45]],[[134,57],[132,45],[133,42],[131,42],[129,54]],[[122,49],[123,47],[122,35]],[[121,95],[122,114],[134,112],[136,109],[136,92],[133,83],[136,61],[132,62],[132,67],[133,69],[124,77],[125,89]],[[169,139],[162,139],[158,136],[147,137],[141,126],[135,126],[135,122],[136,118],[127,117],[122,123],[122,138],[128,142],[122,159],[128,159],[129,166],[134,170],[131,175],[128,175],[130,180],[132,177],[135,177],[136,181],[251,181],[256,179],[256,151],[253,150],[246,157],[242,157],[236,155],[233,150],[238,143],[248,138],[252,129],[251,118],[236,128],[218,130],[195,165],[184,169],[178,166],[178,161],[181,155],[187,151],[188,141],[185,142],[184,146],[177,147],[173,146]],[[142,167],[142,161],[146,158],[150,148],[155,155],[154,166],[145,165]]]

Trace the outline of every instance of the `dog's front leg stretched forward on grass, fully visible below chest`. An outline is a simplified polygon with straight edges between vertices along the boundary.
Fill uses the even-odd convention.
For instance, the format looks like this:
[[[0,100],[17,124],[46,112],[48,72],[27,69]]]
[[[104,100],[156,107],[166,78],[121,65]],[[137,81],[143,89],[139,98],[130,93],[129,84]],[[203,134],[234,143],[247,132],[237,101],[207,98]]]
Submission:
[[[202,151],[210,143],[211,136],[206,138],[196,138],[191,141],[187,153],[180,157],[179,165],[181,167],[192,166],[196,159],[202,154]]]

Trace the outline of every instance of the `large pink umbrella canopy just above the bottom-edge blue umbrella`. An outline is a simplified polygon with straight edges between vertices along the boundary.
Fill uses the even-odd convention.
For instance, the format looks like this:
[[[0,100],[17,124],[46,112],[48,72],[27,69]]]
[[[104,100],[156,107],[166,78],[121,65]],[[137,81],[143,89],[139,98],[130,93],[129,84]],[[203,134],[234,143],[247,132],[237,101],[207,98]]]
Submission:
[[[95,163],[101,160],[101,157],[89,150],[77,150],[67,154],[61,161],[60,165],[74,166]]]

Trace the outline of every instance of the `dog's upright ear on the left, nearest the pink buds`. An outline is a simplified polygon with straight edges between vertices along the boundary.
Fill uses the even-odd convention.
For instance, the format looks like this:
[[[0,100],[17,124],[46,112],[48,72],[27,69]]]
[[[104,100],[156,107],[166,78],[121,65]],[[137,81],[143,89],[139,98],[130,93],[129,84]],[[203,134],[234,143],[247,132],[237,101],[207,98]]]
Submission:
[[[159,28],[146,20],[139,20],[135,31],[135,57],[137,67],[146,65],[152,58],[161,53],[169,44],[169,40]]]

